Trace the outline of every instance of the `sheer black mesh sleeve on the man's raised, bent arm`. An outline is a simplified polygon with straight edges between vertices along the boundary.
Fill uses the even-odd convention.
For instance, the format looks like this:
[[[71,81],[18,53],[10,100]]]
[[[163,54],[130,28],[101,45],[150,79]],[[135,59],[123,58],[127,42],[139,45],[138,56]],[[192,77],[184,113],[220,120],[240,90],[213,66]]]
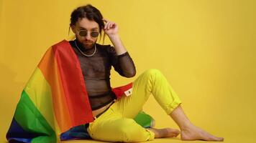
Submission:
[[[114,66],[114,70],[123,77],[134,77],[136,69],[129,53],[125,52],[124,54],[117,55],[113,46],[109,46],[108,49],[111,65]]]

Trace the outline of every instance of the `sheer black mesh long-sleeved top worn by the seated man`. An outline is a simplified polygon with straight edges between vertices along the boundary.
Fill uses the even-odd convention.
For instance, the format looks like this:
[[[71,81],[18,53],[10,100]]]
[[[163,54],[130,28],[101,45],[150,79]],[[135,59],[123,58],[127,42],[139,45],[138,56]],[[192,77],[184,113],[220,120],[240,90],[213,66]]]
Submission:
[[[104,107],[115,99],[110,85],[111,66],[114,66],[114,70],[123,77],[133,77],[136,70],[131,56],[128,52],[116,55],[113,46],[96,44],[96,53],[88,57],[81,54],[81,51],[84,54],[92,54],[94,48],[81,49],[81,44],[77,43],[81,49],[81,51],[78,51],[75,42],[69,42],[81,64],[91,108],[95,110]]]

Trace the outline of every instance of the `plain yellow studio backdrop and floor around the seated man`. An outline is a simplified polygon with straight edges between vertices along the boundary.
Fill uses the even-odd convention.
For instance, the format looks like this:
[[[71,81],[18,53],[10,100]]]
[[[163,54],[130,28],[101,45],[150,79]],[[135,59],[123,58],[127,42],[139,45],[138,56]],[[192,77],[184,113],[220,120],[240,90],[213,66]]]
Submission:
[[[194,124],[225,142],[256,142],[256,1],[0,0],[1,142],[42,54],[72,36],[70,13],[83,4],[93,4],[119,24],[136,77],[160,69]],[[136,77],[126,79],[113,70],[112,87]],[[177,127],[153,98],[145,111],[157,127]]]

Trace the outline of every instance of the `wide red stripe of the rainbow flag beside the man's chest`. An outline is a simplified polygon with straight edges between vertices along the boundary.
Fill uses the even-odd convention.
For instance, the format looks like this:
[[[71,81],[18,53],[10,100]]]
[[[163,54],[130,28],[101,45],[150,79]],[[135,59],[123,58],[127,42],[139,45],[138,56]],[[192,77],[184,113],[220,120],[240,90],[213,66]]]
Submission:
[[[65,99],[73,119],[73,125],[78,126],[92,122],[93,115],[78,57],[68,41],[61,41],[52,47],[58,62]]]

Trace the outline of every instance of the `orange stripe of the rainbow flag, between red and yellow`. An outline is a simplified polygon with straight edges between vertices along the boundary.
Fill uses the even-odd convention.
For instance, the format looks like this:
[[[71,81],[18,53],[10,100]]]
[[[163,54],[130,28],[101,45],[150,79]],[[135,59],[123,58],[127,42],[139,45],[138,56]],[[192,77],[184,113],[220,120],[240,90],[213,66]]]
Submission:
[[[60,73],[58,70],[58,63],[55,59],[52,47],[48,49],[45,56],[38,65],[42,74],[52,89],[52,102],[55,111],[55,117],[60,127],[61,132],[65,132],[71,127],[70,115],[68,112],[68,105],[65,102],[65,93],[62,82],[60,81]]]

